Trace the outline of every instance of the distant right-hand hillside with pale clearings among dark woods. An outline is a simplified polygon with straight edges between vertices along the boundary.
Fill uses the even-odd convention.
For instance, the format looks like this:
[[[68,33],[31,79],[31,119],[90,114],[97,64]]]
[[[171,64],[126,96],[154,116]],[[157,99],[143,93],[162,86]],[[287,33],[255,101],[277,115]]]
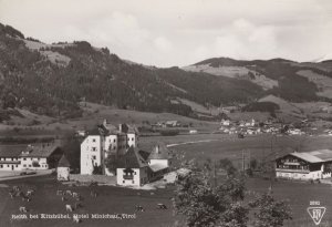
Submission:
[[[250,81],[263,89],[264,95],[273,94],[290,102],[331,102],[331,61],[299,63],[284,59],[238,61],[215,58],[183,69]]]

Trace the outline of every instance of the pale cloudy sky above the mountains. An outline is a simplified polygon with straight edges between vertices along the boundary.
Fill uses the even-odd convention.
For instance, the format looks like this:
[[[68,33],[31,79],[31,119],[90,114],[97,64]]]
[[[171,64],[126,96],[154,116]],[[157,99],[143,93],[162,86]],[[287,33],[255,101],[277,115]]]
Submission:
[[[331,0],[0,0],[0,22],[45,43],[89,41],[122,59],[332,59]]]

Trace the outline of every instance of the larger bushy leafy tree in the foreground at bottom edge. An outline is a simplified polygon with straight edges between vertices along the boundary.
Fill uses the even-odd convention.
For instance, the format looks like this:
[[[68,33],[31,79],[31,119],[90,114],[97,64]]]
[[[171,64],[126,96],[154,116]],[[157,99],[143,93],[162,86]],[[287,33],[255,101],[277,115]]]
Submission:
[[[194,173],[177,182],[174,206],[186,217],[188,227],[245,227],[248,208],[243,206],[243,185],[228,178],[220,186],[209,184],[205,174]]]

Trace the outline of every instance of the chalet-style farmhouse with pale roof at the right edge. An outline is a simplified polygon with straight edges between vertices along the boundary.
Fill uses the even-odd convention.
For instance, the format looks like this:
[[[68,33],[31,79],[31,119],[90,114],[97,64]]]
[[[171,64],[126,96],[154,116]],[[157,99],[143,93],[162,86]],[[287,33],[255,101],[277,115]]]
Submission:
[[[332,151],[293,152],[276,159],[276,175],[291,179],[321,179],[331,177]]]

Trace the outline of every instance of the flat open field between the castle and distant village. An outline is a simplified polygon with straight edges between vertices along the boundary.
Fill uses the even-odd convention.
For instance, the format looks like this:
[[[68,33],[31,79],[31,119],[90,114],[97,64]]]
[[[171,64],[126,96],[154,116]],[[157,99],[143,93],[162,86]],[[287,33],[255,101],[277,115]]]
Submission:
[[[245,162],[249,163],[249,159],[252,158],[258,162],[272,161],[274,157],[293,149],[309,152],[332,148],[332,140],[329,136],[276,136],[263,134],[238,138],[237,135],[196,134],[141,138],[142,148],[145,149],[149,149],[157,142],[180,144],[170,147],[170,149],[184,152],[186,159],[196,158],[198,162],[205,162],[207,158],[212,161],[229,158],[237,167],[241,165],[242,153]]]

